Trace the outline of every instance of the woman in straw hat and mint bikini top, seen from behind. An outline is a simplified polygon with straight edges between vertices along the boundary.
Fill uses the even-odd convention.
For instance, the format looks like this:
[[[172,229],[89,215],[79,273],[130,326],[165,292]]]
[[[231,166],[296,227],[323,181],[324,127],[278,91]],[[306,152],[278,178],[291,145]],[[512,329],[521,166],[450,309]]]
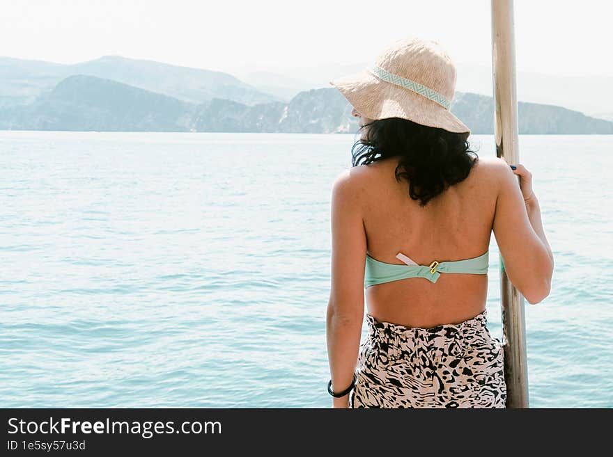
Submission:
[[[486,326],[488,246],[493,230],[529,303],[548,296],[554,262],[531,173],[469,149],[470,129],[449,111],[456,69],[438,42],[397,40],[331,84],[362,132],[332,186],[333,406],[504,408],[503,348]]]

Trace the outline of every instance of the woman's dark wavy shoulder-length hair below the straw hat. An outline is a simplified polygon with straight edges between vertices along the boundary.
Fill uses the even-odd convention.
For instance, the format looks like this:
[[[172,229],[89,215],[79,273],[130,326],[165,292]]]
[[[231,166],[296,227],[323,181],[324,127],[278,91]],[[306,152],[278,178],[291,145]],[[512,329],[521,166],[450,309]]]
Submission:
[[[399,157],[396,181],[405,178],[409,182],[409,196],[419,200],[420,207],[466,179],[479,160],[470,150],[468,133],[451,133],[401,118],[375,119],[359,132],[366,127],[366,138],[351,147],[352,165]]]

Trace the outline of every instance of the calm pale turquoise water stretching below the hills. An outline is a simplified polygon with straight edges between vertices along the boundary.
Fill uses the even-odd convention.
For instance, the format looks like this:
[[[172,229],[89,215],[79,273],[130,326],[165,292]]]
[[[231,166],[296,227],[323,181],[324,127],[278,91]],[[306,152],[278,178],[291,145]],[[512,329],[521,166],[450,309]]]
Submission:
[[[329,191],[353,141],[0,131],[0,406],[328,407]],[[520,136],[556,260],[526,302],[533,407],[613,407],[612,152]],[[502,337],[498,262],[492,236]]]

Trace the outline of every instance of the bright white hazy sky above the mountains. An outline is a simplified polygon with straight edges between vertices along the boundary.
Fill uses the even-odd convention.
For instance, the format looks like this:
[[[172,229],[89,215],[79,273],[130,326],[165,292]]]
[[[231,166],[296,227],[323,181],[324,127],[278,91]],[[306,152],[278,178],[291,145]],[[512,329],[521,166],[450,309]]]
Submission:
[[[515,0],[518,70],[613,76],[612,17],[608,0]],[[362,63],[419,35],[491,65],[490,20],[490,0],[0,0],[0,56],[274,71]]]

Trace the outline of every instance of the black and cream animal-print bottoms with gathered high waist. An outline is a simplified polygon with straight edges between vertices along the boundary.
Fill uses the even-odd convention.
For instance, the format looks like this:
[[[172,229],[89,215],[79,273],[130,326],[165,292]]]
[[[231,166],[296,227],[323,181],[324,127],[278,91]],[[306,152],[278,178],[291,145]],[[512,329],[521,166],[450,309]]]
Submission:
[[[366,314],[350,408],[504,408],[504,351],[487,310],[457,324],[405,327]]]

